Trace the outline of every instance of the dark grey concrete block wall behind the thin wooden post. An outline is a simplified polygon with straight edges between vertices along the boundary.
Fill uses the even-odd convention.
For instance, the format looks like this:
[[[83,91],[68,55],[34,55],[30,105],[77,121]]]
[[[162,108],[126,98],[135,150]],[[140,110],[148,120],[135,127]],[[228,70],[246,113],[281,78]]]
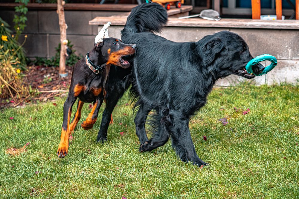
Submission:
[[[97,35],[97,26],[88,22],[97,16],[112,16],[126,12],[108,11],[65,11],[65,21],[68,25],[67,39],[74,44],[76,54],[85,55],[93,48],[94,38]],[[0,10],[0,17],[7,21],[13,30],[14,10]],[[22,43],[24,35],[28,35],[24,48],[29,58],[52,57],[55,48],[60,43],[60,30],[56,10],[30,10],[26,17],[27,27],[19,38]]]

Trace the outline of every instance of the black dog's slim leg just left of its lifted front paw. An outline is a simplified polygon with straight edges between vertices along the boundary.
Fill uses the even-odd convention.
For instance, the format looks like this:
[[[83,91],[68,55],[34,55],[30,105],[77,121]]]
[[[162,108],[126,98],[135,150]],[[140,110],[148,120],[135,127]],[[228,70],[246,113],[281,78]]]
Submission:
[[[145,131],[145,122],[150,111],[150,109],[141,104],[134,119],[136,135],[141,146],[149,141],[149,139],[147,138],[147,133]]]

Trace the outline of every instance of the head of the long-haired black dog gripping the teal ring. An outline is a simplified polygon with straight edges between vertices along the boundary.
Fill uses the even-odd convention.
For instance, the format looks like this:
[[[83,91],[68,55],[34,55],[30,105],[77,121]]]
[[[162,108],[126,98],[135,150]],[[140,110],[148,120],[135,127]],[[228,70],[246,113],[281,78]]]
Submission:
[[[224,78],[231,74],[247,79],[255,77],[245,70],[246,64],[253,57],[246,42],[236,33],[222,31],[205,36],[198,42],[203,64],[212,67],[210,70],[216,73],[217,78]],[[252,70],[258,74],[264,70],[264,67],[258,63],[252,66]]]

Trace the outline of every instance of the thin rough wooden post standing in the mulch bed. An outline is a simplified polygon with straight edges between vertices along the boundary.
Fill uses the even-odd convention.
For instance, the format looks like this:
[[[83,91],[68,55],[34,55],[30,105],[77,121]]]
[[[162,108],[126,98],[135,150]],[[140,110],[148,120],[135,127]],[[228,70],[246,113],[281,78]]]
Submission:
[[[57,0],[57,14],[59,18],[59,28],[60,28],[60,60],[59,60],[59,75],[61,77],[67,76],[65,72],[65,59],[66,59],[66,45],[63,41],[66,40],[66,25],[64,16],[64,6],[65,1]]]

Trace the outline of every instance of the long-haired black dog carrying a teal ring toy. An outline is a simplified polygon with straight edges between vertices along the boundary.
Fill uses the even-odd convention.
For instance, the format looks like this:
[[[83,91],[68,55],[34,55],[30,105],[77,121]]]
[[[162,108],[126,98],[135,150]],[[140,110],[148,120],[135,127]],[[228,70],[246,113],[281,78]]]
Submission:
[[[245,70],[253,57],[246,42],[228,31],[183,43],[148,33],[159,31],[166,20],[167,12],[159,4],[142,4],[132,9],[122,30],[124,42],[137,44],[131,81],[139,106],[135,122],[140,151],[162,146],[170,136],[182,161],[205,165],[191,139],[190,117],[206,104],[217,79],[232,74],[254,78]],[[256,74],[263,69],[261,64],[253,66]],[[156,111],[155,131],[147,141],[144,123],[151,109]]]

